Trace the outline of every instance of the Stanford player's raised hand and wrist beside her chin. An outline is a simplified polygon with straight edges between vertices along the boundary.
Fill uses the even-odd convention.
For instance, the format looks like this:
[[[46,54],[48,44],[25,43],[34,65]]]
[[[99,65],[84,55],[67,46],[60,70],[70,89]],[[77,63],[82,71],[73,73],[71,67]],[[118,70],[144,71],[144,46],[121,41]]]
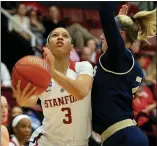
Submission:
[[[54,68],[55,57],[52,55],[51,51],[48,48],[44,47],[43,50],[44,50],[43,56],[50,67],[51,77],[53,77],[55,75]]]

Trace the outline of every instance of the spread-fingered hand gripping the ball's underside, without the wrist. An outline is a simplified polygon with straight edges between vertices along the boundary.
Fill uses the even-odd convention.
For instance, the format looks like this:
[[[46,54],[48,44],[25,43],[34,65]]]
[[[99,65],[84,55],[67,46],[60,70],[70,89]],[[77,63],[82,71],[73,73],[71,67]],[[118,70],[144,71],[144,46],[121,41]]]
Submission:
[[[18,81],[16,87],[13,87],[12,85],[13,97],[16,98],[16,101],[20,106],[25,106],[29,97],[36,94],[35,92],[36,87],[29,89],[29,87],[31,86],[31,83],[28,83],[26,87],[23,90],[21,90],[20,84],[21,84],[21,81]]]

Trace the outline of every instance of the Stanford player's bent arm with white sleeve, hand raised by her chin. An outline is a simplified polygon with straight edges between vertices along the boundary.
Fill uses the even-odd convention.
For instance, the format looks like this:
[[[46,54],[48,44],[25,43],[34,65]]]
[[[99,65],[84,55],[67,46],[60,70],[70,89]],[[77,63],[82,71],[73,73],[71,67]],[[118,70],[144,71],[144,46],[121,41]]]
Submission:
[[[76,80],[66,77],[64,74],[58,72],[54,68],[55,58],[49,49],[44,48],[44,57],[50,66],[52,78],[62,86],[67,92],[76,97],[83,99],[89,93],[92,87],[93,67],[89,62],[82,62],[78,65],[79,76]]]

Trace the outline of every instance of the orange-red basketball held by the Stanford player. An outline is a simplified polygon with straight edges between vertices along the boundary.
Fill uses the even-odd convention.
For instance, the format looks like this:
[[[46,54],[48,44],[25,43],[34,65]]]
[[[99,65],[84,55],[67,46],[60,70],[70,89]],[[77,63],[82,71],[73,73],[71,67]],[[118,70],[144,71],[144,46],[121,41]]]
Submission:
[[[39,57],[25,56],[17,61],[12,70],[12,85],[14,87],[16,87],[18,80],[21,80],[21,90],[31,83],[29,90],[36,86],[36,94],[41,94],[51,81],[49,65]]]

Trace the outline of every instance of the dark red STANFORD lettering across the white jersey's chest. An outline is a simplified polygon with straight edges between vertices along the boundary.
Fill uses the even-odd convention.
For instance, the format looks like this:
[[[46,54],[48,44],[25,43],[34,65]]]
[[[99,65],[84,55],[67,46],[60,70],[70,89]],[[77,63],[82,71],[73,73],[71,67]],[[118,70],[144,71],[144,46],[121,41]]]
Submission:
[[[49,99],[49,100],[45,100],[45,108],[61,106],[76,101],[78,101],[78,99],[76,99],[72,95],[63,96],[61,98]]]

